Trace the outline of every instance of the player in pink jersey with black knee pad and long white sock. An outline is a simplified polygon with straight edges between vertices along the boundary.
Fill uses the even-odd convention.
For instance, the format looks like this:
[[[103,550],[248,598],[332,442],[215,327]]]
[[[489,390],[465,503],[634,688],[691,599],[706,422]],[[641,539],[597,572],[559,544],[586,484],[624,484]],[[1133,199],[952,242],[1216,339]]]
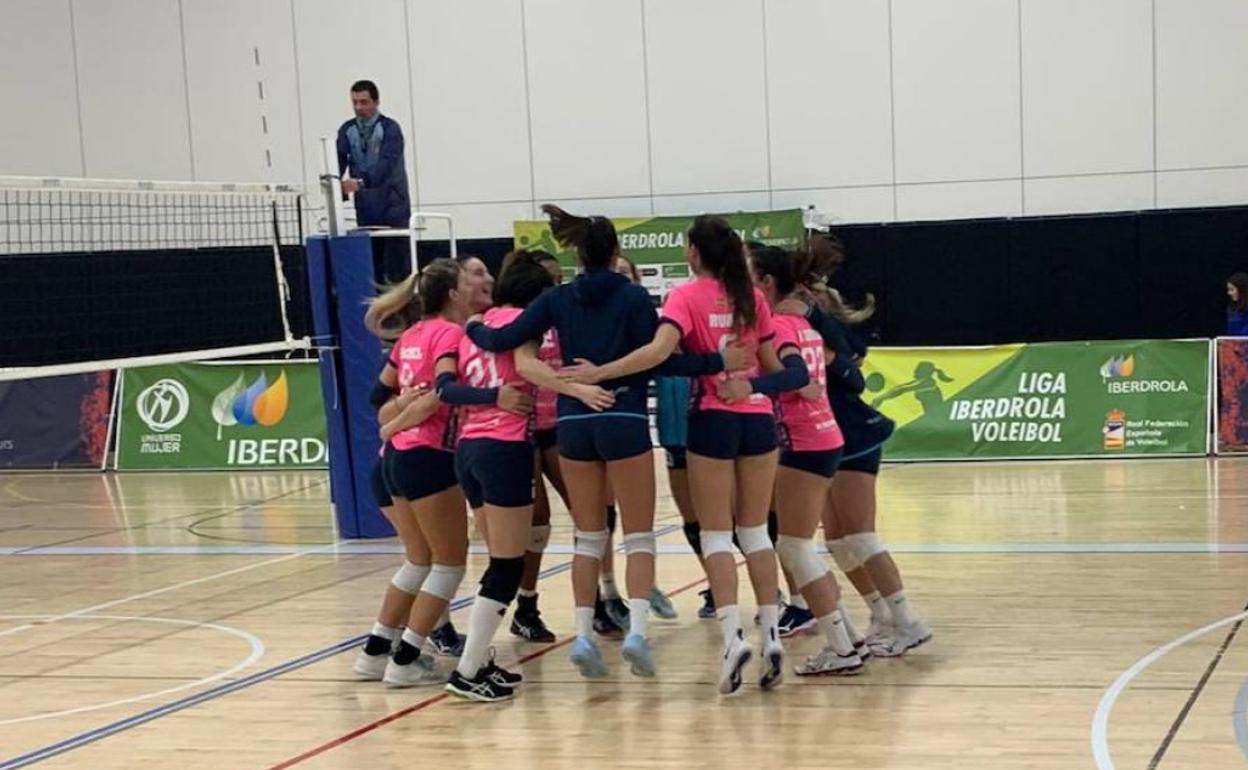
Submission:
[[[549,273],[533,256],[509,255],[494,287],[495,305],[485,312],[483,322],[488,327],[509,323],[552,285]],[[533,522],[534,447],[529,418],[499,408],[498,393],[523,376],[580,399],[595,412],[615,401],[599,387],[559,379],[538,358],[538,347],[537,342],[529,342],[514,353],[493,353],[463,338],[458,378],[466,379],[467,387],[457,382],[453,372],[438,374],[443,401],[464,406],[456,470],[478,520],[485,524],[482,529],[489,549],[489,565],[472,607],[468,641],[447,683],[449,693],[472,700],[507,700],[523,681],[519,674],[499,668],[492,656],[487,659],[494,633],[520,588]]]

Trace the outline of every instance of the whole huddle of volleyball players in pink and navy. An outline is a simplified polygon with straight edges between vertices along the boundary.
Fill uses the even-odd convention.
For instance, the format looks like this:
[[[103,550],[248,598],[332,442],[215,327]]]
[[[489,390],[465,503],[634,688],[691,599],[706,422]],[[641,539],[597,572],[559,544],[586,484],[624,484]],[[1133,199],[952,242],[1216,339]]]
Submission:
[[[871,307],[850,308],[824,285],[841,258],[835,240],[815,235],[787,252],[698,217],[686,241],[695,277],[656,313],[609,220],[543,211],[555,240],[577,250],[575,280],[563,283],[544,252],[508,255],[497,282],[480,260],[439,260],[367,312],[369,328],[393,341],[372,398],[383,439],[373,487],[406,560],[356,671],[391,686],[446,684],[470,700],[513,698],[523,676],[499,666],[490,648],[510,604],[513,634],[554,640],[537,594],[549,482],[575,527],[573,664],[605,676],[598,639],[623,635],[630,671],[655,676],[649,616],[675,610],[655,585],[651,382],[673,498],[710,585],[699,615],[718,618],[723,631],[720,693],[741,686],[755,656],[759,686],[775,688],[781,639],[809,629],[825,645],[795,666],[802,676],[857,674],[872,655],[930,639],[875,534],[875,480],[892,423],[859,397],[866,347],[854,326]],[[489,564],[461,636],[448,603],[467,562],[466,500]],[[626,602],[612,569],[617,523]],[[815,547],[820,524],[870,608],[865,635]],[[734,549],[759,608],[754,648]],[[458,656],[449,674],[436,654]]]

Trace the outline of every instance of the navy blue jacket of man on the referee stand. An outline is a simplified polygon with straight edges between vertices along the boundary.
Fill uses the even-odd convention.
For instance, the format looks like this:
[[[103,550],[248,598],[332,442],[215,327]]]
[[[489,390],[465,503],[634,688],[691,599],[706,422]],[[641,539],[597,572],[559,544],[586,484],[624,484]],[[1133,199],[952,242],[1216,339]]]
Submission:
[[[354,119],[338,129],[338,173],[351,168],[352,178],[362,183],[356,192],[356,223],[361,227],[407,227],[412,218],[412,201],[407,191],[407,168],[403,162],[403,130],[398,124],[377,116],[374,141],[368,157],[363,137]]]

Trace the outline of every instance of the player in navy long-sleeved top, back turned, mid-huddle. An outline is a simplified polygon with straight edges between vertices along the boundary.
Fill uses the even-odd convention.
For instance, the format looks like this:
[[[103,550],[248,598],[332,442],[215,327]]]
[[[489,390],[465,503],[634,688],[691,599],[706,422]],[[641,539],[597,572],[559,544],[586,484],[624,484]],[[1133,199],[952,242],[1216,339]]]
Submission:
[[[559,334],[565,364],[577,359],[607,362],[649,343],[658,318],[645,290],[633,286],[612,267],[619,257],[615,227],[604,217],[577,217],[555,206],[543,206],[554,237],[577,247],[584,272],[534,301],[513,323],[492,329],[480,323],[467,328],[472,341],[487,351],[507,351],[540,338],[550,327]],[[724,367],[711,351],[695,371]],[[664,357],[665,358],[665,357]],[[577,527],[573,557],[577,639],[572,660],[588,678],[607,675],[607,665],[593,636],[598,570],[607,547],[604,508],[607,480],[614,482],[620,503],[624,552],[628,557],[629,634],[623,655],[638,676],[653,676],[655,664],[646,639],[649,592],[654,585],[654,464],[645,409],[648,373],[607,379],[615,394],[612,408],[595,413],[575,399],[558,399],[559,462],[568,484]]]

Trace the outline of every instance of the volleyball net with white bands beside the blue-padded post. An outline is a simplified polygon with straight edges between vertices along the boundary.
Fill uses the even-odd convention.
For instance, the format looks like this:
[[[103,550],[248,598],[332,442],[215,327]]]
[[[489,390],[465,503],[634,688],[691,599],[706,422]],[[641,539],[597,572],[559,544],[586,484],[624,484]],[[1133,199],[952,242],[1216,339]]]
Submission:
[[[15,329],[12,336],[6,329],[5,344],[0,344],[0,382],[310,349],[308,337],[292,333],[287,313],[291,288],[282,270],[282,247],[302,247],[303,217],[303,195],[287,185],[0,176],[0,300],[10,303],[9,313],[0,308],[0,317]],[[187,341],[172,339],[171,332],[170,339],[152,337],[152,352],[131,354],[129,351],[141,346],[124,344],[126,328],[100,326],[122,313],[112,308],[91,316],[92,306],[104,305],[102,297],[91,292],[105,290],[86,283],[77,302],[67,302],[65,296],[40,302],[45,298],[41,292],[64,277],[55,271],[81,270],[92,276],[96,271],[114,285],[125,283],[131,276],[122,271],[131,271],[137,287],[145,280],[158,280],[161,271],[211,275],[212,260],[226,253],[271,257],[276,313],[273,307],[262,309],[266,318],[276,314],[280,332],[275,328],[263,338],[263,328],[257,328],[258,333],[208,329]],[[137,273],[140,263],[147,273]],[[67,268],[70,265],[74,267]],[[222,309],[246,313],[257,308],[252,302]],[[14,311],[19,303],[27,309]],[[196,309],[187,307],[188,313]],[[30,331],[66,316],[72,316],[79,329],[67,341],[64,334],[44,341],[37,331]],[[152,316],[152,324],[161,323],[157,312]],[[25,328],[25,336],[19,327]],[[110,348],[101,342],[117,344]],[[122,349],[127,352],[109,354]]]

